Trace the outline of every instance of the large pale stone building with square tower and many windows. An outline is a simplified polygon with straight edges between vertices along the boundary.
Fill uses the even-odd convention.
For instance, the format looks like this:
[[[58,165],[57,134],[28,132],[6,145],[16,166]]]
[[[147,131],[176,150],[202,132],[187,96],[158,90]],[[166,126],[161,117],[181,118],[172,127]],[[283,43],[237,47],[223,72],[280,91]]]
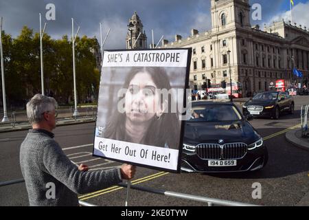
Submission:
[[[251,27],[250,8],[249,0],[211,0],[211,30],[192,30],[186,39],[176,35],[172,43],[162,41],[161,48],[192,47],[192,89],[202,89],[207,79],[211,84],[229,83],[230,68],[231,80],[242,83],[244,96],[268,90],[277,79],[295,81],[293,67],[308,84],[307,28],[278,21],[262,31],[258,25]]]

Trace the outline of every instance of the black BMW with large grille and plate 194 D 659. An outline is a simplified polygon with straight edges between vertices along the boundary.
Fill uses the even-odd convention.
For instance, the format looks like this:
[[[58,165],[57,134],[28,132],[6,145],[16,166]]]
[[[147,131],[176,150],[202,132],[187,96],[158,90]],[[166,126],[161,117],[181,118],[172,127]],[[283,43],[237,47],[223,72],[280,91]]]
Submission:
[[[226,173],[259,170],[266,165],[268,151],[263,138],[233,103],[192,102],[191,111],[185,124],[181,170]]]

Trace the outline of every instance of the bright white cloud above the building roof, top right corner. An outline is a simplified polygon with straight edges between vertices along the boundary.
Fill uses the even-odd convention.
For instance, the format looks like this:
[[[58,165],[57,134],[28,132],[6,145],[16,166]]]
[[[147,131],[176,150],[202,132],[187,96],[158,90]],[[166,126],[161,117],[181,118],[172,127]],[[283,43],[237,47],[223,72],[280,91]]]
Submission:
[[[302,25],[304,28],[305,26],[309,28],[309,1],[306,3],[298,3],[292,9],[292,16],[293,16],[293,24],[297,23],[297,26]],[[269,21],[268,24],[273,21],[280,21],[284,19],[284,21],[290,21],[290,10],[286,12],[279,12],[275,14]]]

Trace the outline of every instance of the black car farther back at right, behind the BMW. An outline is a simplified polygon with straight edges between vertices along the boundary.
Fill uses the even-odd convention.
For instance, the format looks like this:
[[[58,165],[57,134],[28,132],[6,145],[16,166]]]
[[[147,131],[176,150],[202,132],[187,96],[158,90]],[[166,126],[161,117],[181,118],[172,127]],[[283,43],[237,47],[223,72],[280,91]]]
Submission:
[[[293,97],[282,91],[265,91],[244,103],[242,113],[257,116],[269,116],[278,119],[280,113],[288,111],[293,114],[295,103]]]

